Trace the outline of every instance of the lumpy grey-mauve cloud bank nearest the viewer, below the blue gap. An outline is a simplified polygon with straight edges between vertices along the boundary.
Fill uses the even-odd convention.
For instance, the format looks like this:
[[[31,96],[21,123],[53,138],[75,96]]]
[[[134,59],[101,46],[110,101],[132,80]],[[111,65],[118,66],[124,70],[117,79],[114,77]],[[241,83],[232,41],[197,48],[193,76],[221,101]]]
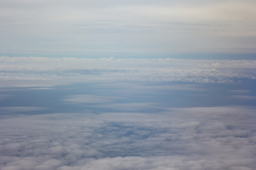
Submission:
[[[0,168],[254,169],[255,108],[73,113],[0,120]]]

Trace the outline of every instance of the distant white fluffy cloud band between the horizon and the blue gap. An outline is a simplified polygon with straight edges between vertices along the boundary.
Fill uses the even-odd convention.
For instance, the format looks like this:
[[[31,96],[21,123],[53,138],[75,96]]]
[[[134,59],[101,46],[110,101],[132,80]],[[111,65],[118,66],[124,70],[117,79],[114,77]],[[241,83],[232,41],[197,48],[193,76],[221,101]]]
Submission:
[[[0,57],[1,87],[108,81],[227,83],[256,79],[255,60]]]

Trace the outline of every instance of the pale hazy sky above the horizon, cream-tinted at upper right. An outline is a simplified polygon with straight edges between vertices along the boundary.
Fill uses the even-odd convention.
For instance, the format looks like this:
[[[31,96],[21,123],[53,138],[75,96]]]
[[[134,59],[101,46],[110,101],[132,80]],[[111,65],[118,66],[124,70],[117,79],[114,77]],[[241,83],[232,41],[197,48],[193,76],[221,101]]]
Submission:
[[[0,55],[253,54],[255,8],[250,0],[1,0]]]

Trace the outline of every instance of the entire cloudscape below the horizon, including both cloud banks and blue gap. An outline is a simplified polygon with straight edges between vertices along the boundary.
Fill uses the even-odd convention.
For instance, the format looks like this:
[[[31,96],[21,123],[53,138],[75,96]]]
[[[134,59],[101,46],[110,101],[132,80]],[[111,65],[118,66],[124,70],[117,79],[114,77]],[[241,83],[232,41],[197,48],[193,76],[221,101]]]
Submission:
[[[253,170],[255,60],[0,57],[0,169]]]

